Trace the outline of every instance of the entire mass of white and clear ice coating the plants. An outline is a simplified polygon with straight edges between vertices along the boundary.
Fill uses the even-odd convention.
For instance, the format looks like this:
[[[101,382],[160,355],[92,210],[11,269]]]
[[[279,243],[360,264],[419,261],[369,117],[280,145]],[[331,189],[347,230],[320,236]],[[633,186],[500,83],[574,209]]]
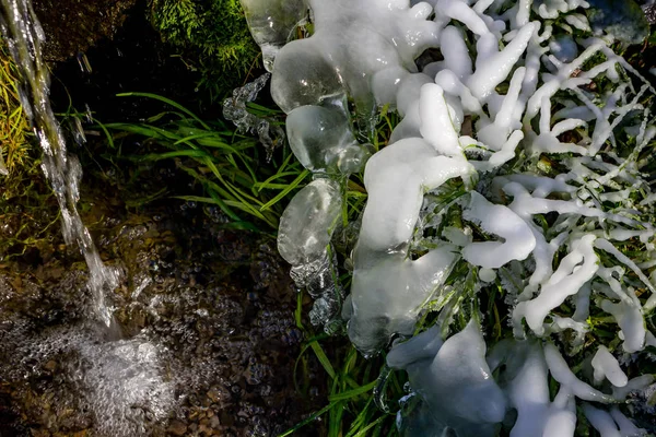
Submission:
[[[255,3],[278,4],[276,14],[298,7],[245,2]],[[315,175],[282,217],[279,248],[323,308],[339,303],[332,236],[345,181],[364,168],[368,198],[342,310],[351,341],[378,353],[395,335],[410,338],[420,315],[441,310],[434,328],[387,356],[421,400],[401,430],[573,436],[578,405],[604,436],[640,435],[611,405],[653,382],[629,379],[625,364],[656,343],[645,323],[656,307],[656,197],[644,176],[656,90],[609,48],[610,36],[593,36],[588,2],[307,7],[314,33],[280,48],[271,70],[290,145]],[[253,32],[262,47],[280,46]],[[370,157],[358,139],[384,105],[402,120]],[[490,287],[503,290],[514,339],[485,356],[476,302]],[[315,305],[318,314],[313,320],[326,323],[335,307]],[[593,319],[617,330],[609,347],[585,349]],[[589,375],[569,366],[579,354],[589,355]]]

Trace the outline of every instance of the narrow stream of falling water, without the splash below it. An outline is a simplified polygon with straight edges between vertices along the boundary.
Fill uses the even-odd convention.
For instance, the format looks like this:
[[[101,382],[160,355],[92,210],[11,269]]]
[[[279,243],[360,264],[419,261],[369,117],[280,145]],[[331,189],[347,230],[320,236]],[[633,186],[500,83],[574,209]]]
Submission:
[[[89,265],[93,317],[109,327],[113,317],[105,294],[117,286],[118,274],[101,260],[78,212],[82,168],[78,158],[67,153],[61,128],[50,106],[50,74],[42,56],[43,28],[28,0],[1,0],[1,4],[0,28],[22,75],[22,105],[43,150],[42,168],[59,202],[65,240],[67,245],[77,243],[80,247]]]

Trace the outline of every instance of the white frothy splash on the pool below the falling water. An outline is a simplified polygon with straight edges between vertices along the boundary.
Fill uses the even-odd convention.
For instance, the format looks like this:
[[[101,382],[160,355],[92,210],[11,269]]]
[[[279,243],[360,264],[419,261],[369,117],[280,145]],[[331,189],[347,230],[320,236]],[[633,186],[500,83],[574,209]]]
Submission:
[[[98,437],[138,437],[150,435],[152,425],[165,421],[178,403],[174,377],[181,376],[167,375],[169,353],[147,333],[102,342],[93,329],[74,324],[37,333],[15,315],[5,321],[0,327],[2,352],[11,347],[12,358],[0,365],[0,375],[17,391],[28,390],[24,381],[38,385],[37,391],[22,395],[52,403],[45,414],[86,423],[83,427],[93,421]],[[45,382],[48,367],[52,381]]]

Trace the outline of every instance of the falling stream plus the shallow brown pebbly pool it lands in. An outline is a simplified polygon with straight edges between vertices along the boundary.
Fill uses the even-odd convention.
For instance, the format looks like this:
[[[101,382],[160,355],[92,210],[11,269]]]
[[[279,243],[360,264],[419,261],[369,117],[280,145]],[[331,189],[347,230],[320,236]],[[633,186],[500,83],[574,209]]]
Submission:
[[[272,241],[227,232],[200,206],[128,212],[122,192],[96,193],[91,175],[84,192],[104,216],[96,246],[77,206],[82,168],[50,105],[45,35],[30,1],[0,0],[0,27],[65,243],[87,265],[57,253],[21,265],[17,279],[0,269],[0,436],[263,436],[298,423],[323,400],[300,402],[294,390],[296,295]],[[162,170],[149,184],[180,184]],[[323,386],[315,375],[307,382]]]

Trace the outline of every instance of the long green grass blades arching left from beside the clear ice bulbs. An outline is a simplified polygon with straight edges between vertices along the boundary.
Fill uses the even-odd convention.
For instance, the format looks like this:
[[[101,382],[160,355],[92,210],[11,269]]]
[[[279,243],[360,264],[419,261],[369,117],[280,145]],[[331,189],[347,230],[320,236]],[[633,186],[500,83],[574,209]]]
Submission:
[[[278,229],[283,200],[309,175],[293,160],[289,147],[280,149],[268,162],[257,140],[237,133],[223,121],[203,121],[155,94],[119,96],[156,99],[165,110],[140,123],[102,125],[116,144],[117,158],[136,164],[174,161],[179,170],[202,187],[201,196],[164,191],[160,197],[214,204],[230,218],[232,227],[271,234]]]

